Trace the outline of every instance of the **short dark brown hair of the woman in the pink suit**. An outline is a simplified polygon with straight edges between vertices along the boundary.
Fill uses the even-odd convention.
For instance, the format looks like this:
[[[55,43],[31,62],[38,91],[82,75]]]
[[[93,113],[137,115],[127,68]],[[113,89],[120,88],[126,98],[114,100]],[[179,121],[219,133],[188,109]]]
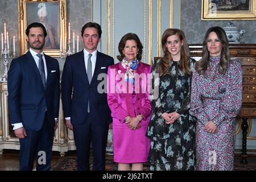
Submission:
[[[120,40],[120,42],[118,44],[118,51],[119,51],[120,55],[117,55],[117,59],[119,61],[122,61],[123,58],[125,57],[125,55],[123,54],[123,49],[125,48],[126,40],[135,40],[135,42],[137,43],[137,47],[138,47],[138,54],[137,54],[136,58],[138,61],[140,61],[142,58],[143,46],[142,46],[141,40],[139,40],[139,37],[133,33],[125,34],[122,37],[122,39]]]

